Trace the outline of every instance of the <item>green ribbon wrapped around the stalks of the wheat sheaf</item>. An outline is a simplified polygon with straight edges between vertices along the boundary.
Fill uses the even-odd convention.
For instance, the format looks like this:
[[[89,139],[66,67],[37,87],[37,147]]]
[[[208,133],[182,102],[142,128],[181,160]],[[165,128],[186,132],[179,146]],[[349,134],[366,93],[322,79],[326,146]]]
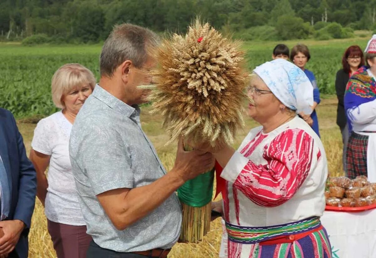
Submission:
[[[188,180],[179,189],[177,196],[181,202],[191,207],[202,207],[212,200],[214,168],[196,178]]]

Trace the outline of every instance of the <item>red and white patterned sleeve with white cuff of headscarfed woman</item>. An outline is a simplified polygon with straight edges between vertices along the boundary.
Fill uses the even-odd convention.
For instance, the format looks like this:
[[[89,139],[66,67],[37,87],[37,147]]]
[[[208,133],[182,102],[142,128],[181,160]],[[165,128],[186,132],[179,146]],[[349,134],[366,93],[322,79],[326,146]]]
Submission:
[[[314,140],[305,131],[288,129],[265,146],[267,164],[255,164],[239,152],[231,157],[221,177],[233,183],[258,205],[275,207],[293,197],[320,152],[314,155]]]

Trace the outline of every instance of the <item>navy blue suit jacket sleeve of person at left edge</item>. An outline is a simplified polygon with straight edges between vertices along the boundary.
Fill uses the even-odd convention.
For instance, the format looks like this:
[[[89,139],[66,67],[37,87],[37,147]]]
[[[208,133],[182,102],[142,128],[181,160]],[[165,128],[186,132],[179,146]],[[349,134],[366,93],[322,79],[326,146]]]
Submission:
[[[31,217],[33,215],[36,196],[36,172],[33,164],[26,156],[25,145],[20,131],[18,131],[16,121],[11,115],[14,130],[17,137],[18,156],[20,160],[20,181],[18,188],[18,201],[13,219],[21,220],[26,228],[30,228]]]

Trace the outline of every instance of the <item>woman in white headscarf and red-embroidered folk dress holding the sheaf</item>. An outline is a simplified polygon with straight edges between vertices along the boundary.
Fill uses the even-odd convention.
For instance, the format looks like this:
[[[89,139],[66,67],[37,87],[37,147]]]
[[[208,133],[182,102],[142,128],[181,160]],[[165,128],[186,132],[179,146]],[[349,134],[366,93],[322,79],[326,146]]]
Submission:
[[[249,115],[261,126],[238,151],[208,149],[226,180],[228,257],[330,258],[320,223],[326,155],[317,134],[296,116],[312,112],[312,85],[296,65],[276,59],[254,70],[248,93]]]

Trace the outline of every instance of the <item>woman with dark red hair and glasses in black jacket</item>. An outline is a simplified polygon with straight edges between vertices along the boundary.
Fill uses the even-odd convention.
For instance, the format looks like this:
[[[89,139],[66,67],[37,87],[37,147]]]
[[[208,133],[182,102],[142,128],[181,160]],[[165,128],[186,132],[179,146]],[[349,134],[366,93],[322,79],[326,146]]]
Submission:
[[[350,46],[342,56],[343,68],[338,70],[335,77],[335,91],[337,92],[337,125],[340,127],[343,142],[342,163],[343,170],[346,172],[346,148],[349,140],[349,127],[347,126],[345,107],[343,98],[347,82],[351,75],[356,72],[364,63],[363,52],[358,45]]]

